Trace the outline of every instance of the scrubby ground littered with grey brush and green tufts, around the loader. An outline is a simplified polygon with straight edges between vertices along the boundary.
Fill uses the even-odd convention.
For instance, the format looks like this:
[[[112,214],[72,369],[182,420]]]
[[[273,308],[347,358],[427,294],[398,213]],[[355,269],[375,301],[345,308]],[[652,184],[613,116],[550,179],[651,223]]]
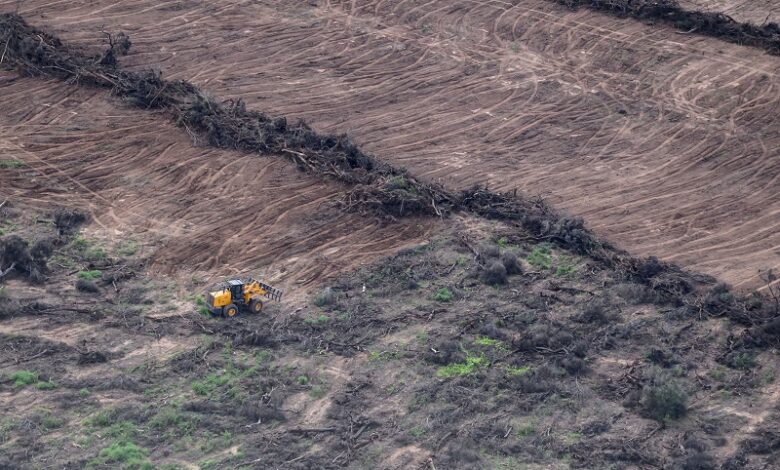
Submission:
[[[48,214],[12,209],[17,234],[51,234]],[[728,319],[655,305],[513,227],[454,220],[298,308],[230,320],[176,308],[186,291],[146,276],[143,258],[107,247],[85,264],[83,238],[58,244],[45,284],[3,286],[18,306],[0,317],[3,468],[778,462],[774,350],[734,350]],[[519,269],[487,284],[509,254]],[[101,267],[97,291],[74,290],[61,263]],[[136,460],[109,452],[129,445]]]

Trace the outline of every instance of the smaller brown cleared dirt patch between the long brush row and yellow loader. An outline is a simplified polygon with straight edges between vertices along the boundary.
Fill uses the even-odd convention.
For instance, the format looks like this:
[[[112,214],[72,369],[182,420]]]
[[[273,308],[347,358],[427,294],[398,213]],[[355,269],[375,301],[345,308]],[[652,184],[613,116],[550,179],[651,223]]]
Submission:
[[[0,73],[0,87],[3,161],[20,162],[0,173],[0,200],[88,209],[95,237],[155,252],[153,272],[208,280],[262,268],[268,279],[303,287],[433,228],[346,214],[335,207],[338,185],[281,158],[194,147],[165,118],[118,108],[102,92],[9,73]]]

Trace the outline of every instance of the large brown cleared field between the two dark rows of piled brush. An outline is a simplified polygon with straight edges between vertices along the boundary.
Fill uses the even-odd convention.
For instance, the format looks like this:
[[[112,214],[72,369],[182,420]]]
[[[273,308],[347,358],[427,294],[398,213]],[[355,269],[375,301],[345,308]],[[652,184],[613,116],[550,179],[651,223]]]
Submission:
[[[543,0],[20,12],[83,45],[121,29],[126,65],[349,132],[416,174],[542,194],[633,253],[738,287],[780,266],[780,59],[760,50]]]

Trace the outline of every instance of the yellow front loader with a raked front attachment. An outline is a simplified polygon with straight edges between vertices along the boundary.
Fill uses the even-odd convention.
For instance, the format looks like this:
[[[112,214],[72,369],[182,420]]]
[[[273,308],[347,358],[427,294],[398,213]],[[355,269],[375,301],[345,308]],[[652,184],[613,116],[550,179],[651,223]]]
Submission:
[[[244,310],[250,313],[260,313],[263,310],[263,300],[282,300],[282,291],[268,284],[248,279],[231,279],[219,286],[218,290],[206,294],[206,306],[212,315],[234,317]]]

